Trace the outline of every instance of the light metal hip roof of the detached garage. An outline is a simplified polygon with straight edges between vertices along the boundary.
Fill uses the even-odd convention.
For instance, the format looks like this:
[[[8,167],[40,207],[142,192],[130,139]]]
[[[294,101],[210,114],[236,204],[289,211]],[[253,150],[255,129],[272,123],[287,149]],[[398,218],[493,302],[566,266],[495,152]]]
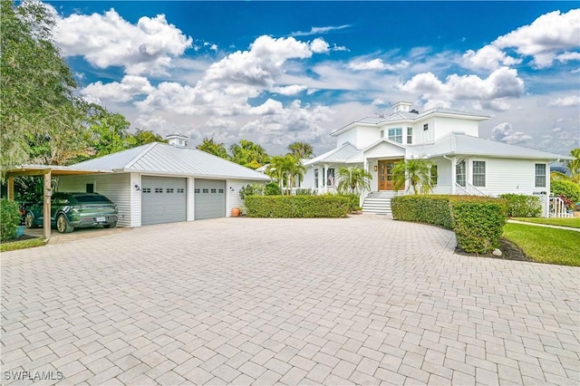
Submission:
[[[90,159],[75,164],[73,167],[199,178],[270,180],[269,177],[256,170],[221,159],[205,151],[178,148],[160,142],[123,150],[98,159]]]

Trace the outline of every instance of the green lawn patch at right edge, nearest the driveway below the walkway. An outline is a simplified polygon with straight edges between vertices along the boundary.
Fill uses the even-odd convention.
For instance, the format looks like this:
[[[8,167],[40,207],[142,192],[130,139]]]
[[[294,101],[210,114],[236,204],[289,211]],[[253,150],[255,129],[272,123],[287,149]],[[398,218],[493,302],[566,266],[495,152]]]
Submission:
[[[507,223],[504,237],[538,263],[580,266],[580,232]]]

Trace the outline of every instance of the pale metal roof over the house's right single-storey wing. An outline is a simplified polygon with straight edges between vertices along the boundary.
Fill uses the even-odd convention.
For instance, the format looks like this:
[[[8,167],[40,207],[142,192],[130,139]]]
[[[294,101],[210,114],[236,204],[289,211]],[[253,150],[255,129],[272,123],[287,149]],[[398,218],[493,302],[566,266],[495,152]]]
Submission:
[[[416,145],[411,147],[422,153],[437,156],[487,156],[512,159],[572,159],[543,150],[535,150],[522,146],[509,145],[495,140],[484,140],[466,134],[449,133],[429,145]]]

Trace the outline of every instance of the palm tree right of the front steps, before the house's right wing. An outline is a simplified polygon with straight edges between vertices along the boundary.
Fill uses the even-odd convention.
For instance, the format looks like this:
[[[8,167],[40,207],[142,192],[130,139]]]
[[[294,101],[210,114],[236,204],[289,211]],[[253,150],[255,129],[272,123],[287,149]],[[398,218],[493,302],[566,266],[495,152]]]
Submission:
[[[431,166],[433,163],[427,159],[407,159],[397,162],[392,169],[394,188],[401,190],[409,180],[409,187],[413,188],[413,194],[427,194],[433,189]]]

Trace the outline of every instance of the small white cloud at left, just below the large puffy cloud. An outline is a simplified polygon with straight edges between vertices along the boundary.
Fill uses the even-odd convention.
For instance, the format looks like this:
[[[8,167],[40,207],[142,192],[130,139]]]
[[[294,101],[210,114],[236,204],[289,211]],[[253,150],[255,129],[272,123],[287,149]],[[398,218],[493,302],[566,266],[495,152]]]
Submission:
[[[136,95],[148,94],[154,90],[147,78],[125,75],[121,82],[91,83],[81,90],[81,94],[98,100],[131,101]]]

